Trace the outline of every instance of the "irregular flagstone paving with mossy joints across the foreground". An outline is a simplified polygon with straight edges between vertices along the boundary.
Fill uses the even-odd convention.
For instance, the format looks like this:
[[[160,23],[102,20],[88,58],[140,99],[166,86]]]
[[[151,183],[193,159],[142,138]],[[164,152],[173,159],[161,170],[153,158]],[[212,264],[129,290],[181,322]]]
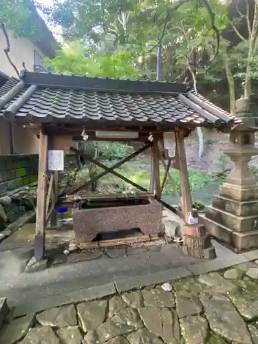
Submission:
[[[8,316],[1,344],[258,344],[258,261]],[[72,302],[72,301],[71,301]]]

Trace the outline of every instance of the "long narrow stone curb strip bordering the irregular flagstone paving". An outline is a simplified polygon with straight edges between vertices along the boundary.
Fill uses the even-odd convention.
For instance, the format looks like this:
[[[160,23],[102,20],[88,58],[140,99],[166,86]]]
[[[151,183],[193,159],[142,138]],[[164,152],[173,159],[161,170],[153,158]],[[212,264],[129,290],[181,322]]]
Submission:
[[[248,257],[249,256],[249,257]],[[26,302],[14,307],[13,318],[24,316],[30,312],[41,312],[47,308],[54,308],[69,303],[78,303],[80,301],[92,301],[101,299],[109,295],[120,292],[128,292],[133,289],[151,286],[153,284],[164,283],[169,280],[181,279],[193,275],[202,275],[207,272],[230,268],[239,264],[245,264],[249,261],[258,259],[258,250],[242,254],[231,255],[224,259],[214,259],[204,261],[200,264],[193,264],[186,267],[171,268],[164,271],[153,272],[148,275],[140,275],[118,279],[114,283],[108,283],[91,288],[85,288],[78,291],[67,292],[64,294],[53,294],[50,297],[39,298],[32,302]]]

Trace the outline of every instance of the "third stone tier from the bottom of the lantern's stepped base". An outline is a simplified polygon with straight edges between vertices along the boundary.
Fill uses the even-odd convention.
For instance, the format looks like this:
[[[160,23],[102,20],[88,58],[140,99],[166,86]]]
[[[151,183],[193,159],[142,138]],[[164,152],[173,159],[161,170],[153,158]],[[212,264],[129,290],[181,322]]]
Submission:
[[[258,200],[239,202],[229,197],[214,195],[212,204],[214,208],[237,216],[257,215]]]

